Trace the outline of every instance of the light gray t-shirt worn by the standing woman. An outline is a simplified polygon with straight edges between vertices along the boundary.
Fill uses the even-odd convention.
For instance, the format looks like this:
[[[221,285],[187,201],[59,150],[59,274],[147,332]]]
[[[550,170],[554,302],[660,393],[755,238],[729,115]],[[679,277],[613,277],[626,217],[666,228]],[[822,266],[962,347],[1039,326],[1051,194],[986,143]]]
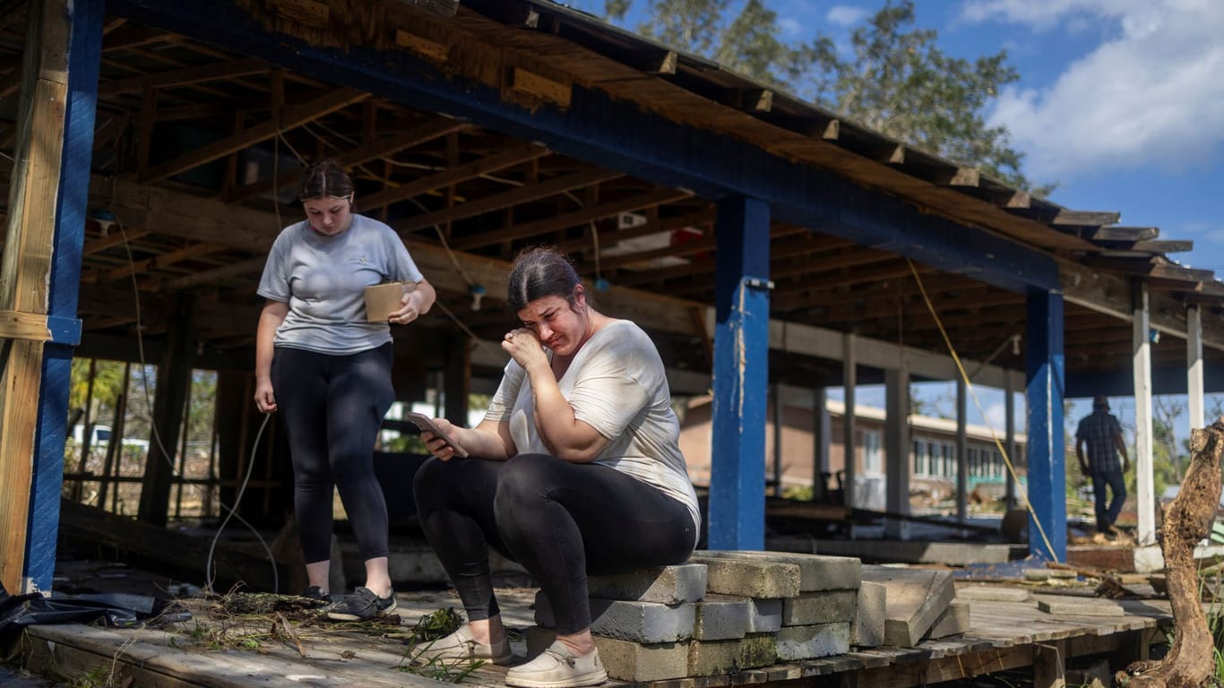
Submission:
[[[324,236],[307,220],[280,231],[259,279],[259,296],[289,304],[277,346],[356,354],[390,342],[386,322],[366,322],[365,288],[421,282],[408,249],[386,224],[353,215],[349,229]]]

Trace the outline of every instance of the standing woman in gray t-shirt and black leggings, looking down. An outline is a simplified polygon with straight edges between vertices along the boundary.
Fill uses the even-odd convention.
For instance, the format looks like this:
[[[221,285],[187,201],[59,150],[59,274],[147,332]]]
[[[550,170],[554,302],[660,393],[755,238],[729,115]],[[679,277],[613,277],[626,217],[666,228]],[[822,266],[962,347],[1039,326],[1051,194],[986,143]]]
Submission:
[[[366,322],[365,288],[415,283],[388,318],[409,323],[435,291],[386,224],[353,212],[353,180],[332,159],[306,168],[306,219],[286,226],[259,280],[267,299],[256,334],[255,403],[280,411],[294,465],[294,508],[307,597],[330,599],[332,495],[340,493],[366,564],[365,585],[328,610],[357,621],[395,608],[387,572],[387,503],[373,448],[394,402],[387,322]]]

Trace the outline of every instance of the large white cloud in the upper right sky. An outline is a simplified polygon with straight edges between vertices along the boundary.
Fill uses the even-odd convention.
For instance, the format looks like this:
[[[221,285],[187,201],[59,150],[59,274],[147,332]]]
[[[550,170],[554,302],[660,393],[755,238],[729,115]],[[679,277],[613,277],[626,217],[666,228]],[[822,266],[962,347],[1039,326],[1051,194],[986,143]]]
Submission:
[[[1038,29],[1092,15],[1116,23],[1048,88],[1005,89],[991,114],[1028,154],[1034,179],[1157,164],[1204,168],[1224,142],[1224,2],[1218,0],[993,0],[966,18]]]

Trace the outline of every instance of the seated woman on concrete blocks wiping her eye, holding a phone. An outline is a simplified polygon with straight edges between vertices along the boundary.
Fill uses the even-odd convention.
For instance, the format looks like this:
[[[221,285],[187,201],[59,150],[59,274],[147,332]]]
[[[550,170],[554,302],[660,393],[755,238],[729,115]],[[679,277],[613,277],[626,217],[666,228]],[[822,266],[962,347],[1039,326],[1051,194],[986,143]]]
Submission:
[[[650,337],[592,308],[550,249],[515,260],[508,305],[523,327],[502,342],[513,360],[485,419],[470,430],[436,421],[469,458],[422,433],[435,458],[416,474],[416,512],[468,623],[412,659],[513,659],[490,579],[493,547],[536,579],[557,619],[557,641],[506,683],[594,686],[607,673],[591,639],[588,573],[688,559],[696,495]]]

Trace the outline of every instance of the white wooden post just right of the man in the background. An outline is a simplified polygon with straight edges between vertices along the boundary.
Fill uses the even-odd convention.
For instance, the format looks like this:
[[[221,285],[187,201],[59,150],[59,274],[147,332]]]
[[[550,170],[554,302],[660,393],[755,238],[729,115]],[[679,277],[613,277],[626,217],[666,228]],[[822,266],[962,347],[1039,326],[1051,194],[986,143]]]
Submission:
[[[1155,486],[1152,477],[1152,317],[1148,286],[1135,280],[1131,365],[1135,372],[1135,502],[1140,545],[1155,544]]]

